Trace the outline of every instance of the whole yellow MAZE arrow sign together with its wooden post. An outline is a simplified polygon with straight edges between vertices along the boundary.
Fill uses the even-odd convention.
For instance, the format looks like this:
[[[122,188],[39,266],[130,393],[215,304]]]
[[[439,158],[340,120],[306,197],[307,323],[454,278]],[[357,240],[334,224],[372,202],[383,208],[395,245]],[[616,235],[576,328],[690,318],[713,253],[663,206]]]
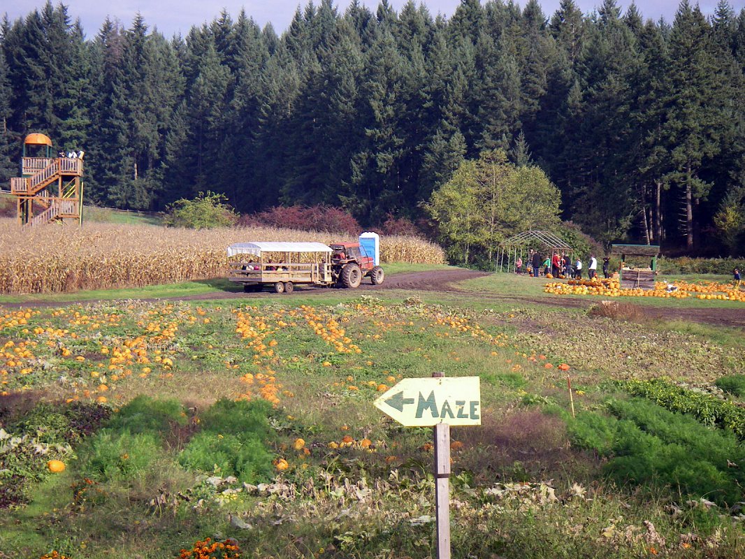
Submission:
[[[450,559],[450,426],[481,425],[481,379],[403,379],[375,407],[408,427],[434,427],[434,499],[437,559]]]

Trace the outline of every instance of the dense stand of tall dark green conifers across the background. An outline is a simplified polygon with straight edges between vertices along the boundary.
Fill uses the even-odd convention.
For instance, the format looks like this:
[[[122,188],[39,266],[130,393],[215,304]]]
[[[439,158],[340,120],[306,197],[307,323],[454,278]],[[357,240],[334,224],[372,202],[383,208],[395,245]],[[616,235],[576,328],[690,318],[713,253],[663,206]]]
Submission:
[[[142,16],[86,39],[48,2],[0,33],[2,180],[39,131],[86,151],[96,203],[211,191],[373,226],[425,217],[464,160],[501,149],[602,241],[691,250],[718,231],[736,249],[745,230],[745,9],[726,0],[710,18],[683,0],[672,23],[615,0],[463,0],[450,18],[321,0],[282,34],[241,11],[170,39]]]

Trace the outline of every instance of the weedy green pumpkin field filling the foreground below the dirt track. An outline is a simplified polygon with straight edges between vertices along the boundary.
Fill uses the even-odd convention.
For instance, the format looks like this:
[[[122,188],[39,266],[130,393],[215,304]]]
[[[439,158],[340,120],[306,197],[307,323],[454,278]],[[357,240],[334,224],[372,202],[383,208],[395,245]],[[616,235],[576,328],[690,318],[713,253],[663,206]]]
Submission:
[[[0,312],[0,557],[196,557],[209,537],[429,558],[431,430],[373,400],[436,370],[481,377],[482,426],[453,430],[454,557],[744,555],[742,336],[543,305],[543,283],[136,300],[228,288],[194,282]]]

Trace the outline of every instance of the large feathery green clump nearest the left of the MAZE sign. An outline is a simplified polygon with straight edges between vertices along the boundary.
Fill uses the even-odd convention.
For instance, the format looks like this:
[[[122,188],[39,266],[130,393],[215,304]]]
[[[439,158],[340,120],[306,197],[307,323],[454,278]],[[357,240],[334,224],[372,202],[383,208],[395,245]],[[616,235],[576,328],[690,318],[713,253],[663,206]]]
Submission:
[[[267,480],[273,458],[266,446],[273,434],[270,409],[264,401],[215,402],[201,417],[202,431],[180,453],[180,464],[247,483]]]

